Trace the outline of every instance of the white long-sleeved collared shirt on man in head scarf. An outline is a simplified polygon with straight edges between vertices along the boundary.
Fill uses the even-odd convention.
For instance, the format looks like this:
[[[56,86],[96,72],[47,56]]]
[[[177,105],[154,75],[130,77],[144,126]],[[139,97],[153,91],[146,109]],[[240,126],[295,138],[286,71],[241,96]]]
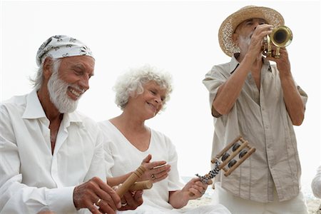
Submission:
[[[52,155],[36,90],[0,104],[0,131],[0,213],[77,213],[75,186],[95,176],[106,180],[96,122],[63,114]]]

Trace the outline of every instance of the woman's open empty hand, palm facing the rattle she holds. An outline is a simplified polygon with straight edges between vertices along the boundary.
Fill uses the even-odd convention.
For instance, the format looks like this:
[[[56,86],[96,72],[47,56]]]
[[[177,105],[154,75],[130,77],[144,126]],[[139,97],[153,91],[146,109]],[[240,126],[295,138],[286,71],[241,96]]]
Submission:
[[[152,156],[149,154],[143,159],[142,165],[146,171],[138,180],[151,180],[153,183],[167,178],[170,171],[170,165],[166,161],[151,161]]]

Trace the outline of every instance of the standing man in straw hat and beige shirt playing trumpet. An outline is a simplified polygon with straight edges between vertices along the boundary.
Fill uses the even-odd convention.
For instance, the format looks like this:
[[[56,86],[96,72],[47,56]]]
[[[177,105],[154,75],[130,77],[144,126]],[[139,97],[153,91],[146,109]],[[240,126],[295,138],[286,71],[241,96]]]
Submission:
[[[307,95],[297,86],[285,48],[263,57],[263,40],[284,25],[274,9],[245,6],[221,24],[229,63],[213,66],[203,83],[214,118],[213,156],[241,135],[256,148],[228,177],[215,178],[213,201],[231,213],[307,213],[293,125],[300,126]],[[275,63],[270,63],[274,61]]]

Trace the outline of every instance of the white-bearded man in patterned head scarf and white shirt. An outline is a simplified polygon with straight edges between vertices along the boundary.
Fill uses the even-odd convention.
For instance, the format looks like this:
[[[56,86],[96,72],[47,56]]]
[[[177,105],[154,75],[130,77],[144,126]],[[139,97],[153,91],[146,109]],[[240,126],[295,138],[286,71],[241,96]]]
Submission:
[[[0,104],[0,213],[115,213],[135,209],[106,184],[103,138],[76,112],[95,59],[70,36],[51,36],[36,54],[34,91]],[[85,208],[85,209],[83,209]]]

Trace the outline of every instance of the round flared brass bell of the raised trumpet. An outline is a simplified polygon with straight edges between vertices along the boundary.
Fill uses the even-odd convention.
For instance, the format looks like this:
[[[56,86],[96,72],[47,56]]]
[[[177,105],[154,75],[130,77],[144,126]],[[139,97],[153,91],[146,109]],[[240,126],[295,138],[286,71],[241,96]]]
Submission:
[[[279,48],[288,46],[293,39],[292,31],[287,26],[278,26],[270,34],[272,44]]]

